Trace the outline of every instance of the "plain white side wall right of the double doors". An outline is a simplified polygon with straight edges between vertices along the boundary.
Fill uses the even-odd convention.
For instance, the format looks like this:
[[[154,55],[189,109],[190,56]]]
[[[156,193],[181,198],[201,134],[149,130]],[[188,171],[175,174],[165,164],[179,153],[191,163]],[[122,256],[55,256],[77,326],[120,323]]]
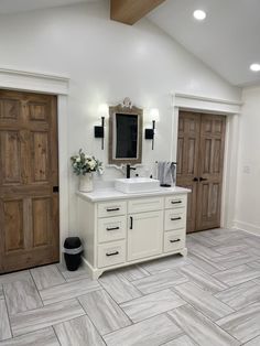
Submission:
[[[235,226],[260,235],[260,86],[243,89]]]

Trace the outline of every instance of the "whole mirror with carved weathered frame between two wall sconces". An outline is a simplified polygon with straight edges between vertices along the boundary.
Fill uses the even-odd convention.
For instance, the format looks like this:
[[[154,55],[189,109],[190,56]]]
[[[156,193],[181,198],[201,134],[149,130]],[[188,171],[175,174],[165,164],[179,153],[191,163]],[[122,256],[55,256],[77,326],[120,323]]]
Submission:
[[[142,162],[142,109],[118,105],[109,107],[108,163]]]

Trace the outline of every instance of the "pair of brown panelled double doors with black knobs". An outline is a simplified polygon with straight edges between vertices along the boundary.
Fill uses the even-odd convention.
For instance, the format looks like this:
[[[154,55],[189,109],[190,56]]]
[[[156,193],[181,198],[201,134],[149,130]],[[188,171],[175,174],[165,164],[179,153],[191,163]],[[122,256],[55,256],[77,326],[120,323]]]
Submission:
[[[177,185],[188,187],[187,233],[220,226],[226,118],[181,111]]]

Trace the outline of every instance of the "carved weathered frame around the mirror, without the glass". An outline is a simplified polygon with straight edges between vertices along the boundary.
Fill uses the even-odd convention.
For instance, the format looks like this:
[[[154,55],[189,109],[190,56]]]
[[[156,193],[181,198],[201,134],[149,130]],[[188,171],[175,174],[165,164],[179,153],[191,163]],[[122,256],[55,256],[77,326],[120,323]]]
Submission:
[[[123,113],[123,115],[134,115],[138,116],[138,158],[137,159],[115,159],[113,158],[113,136],[115,136],[115,118],[117,113]],[[117,106],[110,106],[109,107],[109,145],[108,145],[108,163],[109,164],[116,164],[116,165],[121,165],[121,164],[137,164],[142,162],[142,125],[143,125],[143,110],[138,107],[126,107],[122,105],[117,105]]]

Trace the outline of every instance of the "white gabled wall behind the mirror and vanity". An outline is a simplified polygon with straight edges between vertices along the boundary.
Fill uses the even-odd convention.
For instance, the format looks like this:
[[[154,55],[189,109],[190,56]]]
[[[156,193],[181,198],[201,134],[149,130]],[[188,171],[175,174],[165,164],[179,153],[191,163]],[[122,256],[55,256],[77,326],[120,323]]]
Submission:
[[[107,142],[101,151],[100,140],[93,137],[100,104],[115,105],[129,96],[144,109],[144,127],[151,126],[149,109],[159,108],[154,151],[143,141],[143,164],[150,169],[155,160],[175,156],[170,93],[240,98],[240,89],[147,19],[134,26],[110,21],[107,1],[0,17],[0,67],[69,76],[68,152],[84,148],[105,163]],[[107,169],[104,179],[116,175],[120,173]],[[72,229],[76,182],[71,176]]]

